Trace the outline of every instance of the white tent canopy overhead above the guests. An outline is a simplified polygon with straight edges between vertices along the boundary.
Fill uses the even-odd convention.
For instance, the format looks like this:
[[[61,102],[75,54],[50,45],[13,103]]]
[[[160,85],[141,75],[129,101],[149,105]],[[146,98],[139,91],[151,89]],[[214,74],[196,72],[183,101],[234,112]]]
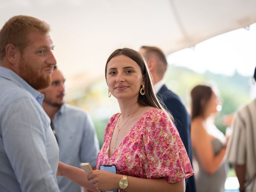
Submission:
[[[256,0],[0,0],[1,27],[18,14],[51,25],[72,90],[102,78],[116,48],[154,45],[169,54],[247,27],[256,22]]]

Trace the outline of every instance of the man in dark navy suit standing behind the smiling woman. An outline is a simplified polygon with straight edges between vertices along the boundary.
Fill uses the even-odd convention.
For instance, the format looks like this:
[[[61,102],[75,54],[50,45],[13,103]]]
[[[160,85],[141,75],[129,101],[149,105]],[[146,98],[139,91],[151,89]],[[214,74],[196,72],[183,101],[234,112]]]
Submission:
[[[180,138],[186,148],[188,157],[192,164],[192,147],[190,141],[190,116],[178,95],[169,90],[164,84],[164,74],[167,70],[166,56],[157,47],[142,46],[139,51],[146,59],[148,69],[152,74],[154,83],[154,91],[156,95],[165,104],[166,109],[169,110],[174,118],[174,123]],[[186,179],[186,192],[195,192],[196,184],[194,175]]]

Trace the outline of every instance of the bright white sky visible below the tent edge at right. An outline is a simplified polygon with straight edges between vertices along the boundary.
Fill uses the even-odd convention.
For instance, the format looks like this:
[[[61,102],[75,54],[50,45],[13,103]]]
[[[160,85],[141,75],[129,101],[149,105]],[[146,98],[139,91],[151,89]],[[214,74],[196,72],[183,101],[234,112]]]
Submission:
[[[170,65],[185,66],[196,72],[206,70],[233,75],[235,70],[252,76],[256,66],[256,23],[205,40],[167,56]]]

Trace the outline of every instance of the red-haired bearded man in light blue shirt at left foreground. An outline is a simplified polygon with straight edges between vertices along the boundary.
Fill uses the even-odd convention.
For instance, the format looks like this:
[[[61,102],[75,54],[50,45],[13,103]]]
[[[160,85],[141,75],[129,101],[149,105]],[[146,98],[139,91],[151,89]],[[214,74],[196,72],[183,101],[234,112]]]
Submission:
[[[59,149],[37,91],[56,65],[49,31],[30,16],[0,30],[0,191],[59,192]]]

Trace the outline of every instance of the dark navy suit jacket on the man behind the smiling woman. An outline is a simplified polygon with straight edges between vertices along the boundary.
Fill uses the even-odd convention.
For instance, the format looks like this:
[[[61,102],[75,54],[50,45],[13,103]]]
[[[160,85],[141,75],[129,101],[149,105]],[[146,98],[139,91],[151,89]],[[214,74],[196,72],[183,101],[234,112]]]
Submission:
[[[180,134],[180,138],[188,153],[192,165],[192,146],[190,139],[190,116],[178,95],[169,90],[166,85],[163,85],[159,92],[156,94],[162,101],[166,109],[171,112],[175,126]],[[186,180],[186,192],[196,192],[196,184],[194,175]]]

